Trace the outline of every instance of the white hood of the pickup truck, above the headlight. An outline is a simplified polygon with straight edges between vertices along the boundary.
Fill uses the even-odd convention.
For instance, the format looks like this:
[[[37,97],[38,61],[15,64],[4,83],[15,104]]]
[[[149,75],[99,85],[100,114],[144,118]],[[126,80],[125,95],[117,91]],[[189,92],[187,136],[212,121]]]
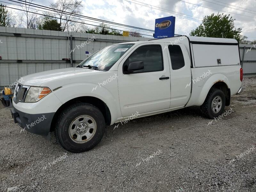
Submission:
[[[50,85],[51,82],[56,81],[65,81],[67,79],[71,80],[73,78],[79,76],[87,76],[87,75],[94,75],[98,73],[103,73],[104,71],[97,71],[93,69],[87,68],[63,68],[63,69],[54,69],[50,71],[44,71],[39,73],[34,73],[31,75],[27,75],[21,77],[21,84],[27,86],[41,86]]]

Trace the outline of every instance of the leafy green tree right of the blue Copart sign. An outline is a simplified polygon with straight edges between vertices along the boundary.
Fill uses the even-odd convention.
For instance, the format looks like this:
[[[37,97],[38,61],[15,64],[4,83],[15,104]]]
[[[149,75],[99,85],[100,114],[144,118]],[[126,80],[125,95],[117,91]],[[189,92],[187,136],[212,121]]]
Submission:
[[[218,13],[204,16],[203,22],[190,32],[191,36],[235,38],[238,42],[247,39],[242,36],[241,28],[235,28],[234,20],[230,15]]]

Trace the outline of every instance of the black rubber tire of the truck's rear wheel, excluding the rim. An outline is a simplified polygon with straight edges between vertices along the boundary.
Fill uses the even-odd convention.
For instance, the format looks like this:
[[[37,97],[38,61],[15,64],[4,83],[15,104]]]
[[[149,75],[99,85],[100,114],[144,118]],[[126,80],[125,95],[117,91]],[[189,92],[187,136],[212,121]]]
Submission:
[[[222,106],[220,107],[220,111],[218,111],[217,113],[215,111],[215,113],[214,113],[214,111],[212,109],[212,101],[217,96],[221,97]],[[226,104],[225,102],[226,102],[226,99],[225,99],[224,93],[220,89],[212,88],[208,92],[203,105],[201,105],[201,112],[205,117],[214,119],[223,113],[225,104]]]

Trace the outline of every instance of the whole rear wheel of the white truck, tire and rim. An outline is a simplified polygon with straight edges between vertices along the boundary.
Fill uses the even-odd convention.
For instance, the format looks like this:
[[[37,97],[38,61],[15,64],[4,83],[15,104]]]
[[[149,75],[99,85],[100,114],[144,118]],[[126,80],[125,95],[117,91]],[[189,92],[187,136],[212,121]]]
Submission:
[[[212,88],[201,105],[201,111],[204,116],[213,119],[222,114],[225,108],[225,95],[220,89]]]

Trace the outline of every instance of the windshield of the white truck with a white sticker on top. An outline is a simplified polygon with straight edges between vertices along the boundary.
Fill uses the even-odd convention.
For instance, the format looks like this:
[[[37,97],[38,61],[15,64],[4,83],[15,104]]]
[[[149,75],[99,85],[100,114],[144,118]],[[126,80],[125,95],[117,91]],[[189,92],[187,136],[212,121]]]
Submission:
[[[108,71],[116,63],[116,61],[119,60],[124,53],[132,47],[132,45],[134,44],[117,44],[105,47],[88,57],[86,60],[80,63],[79,66],[83,67],[89,65],[97,67],[99,70]]]

